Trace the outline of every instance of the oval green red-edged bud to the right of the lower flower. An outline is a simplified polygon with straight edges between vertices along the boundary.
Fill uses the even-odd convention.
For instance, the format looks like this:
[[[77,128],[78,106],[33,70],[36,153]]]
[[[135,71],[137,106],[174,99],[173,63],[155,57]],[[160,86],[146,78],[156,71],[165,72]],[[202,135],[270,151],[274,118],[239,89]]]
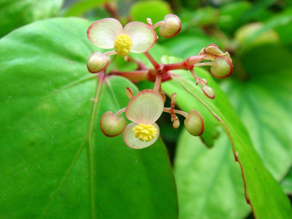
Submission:
[[[185,129],[194,136],[199,136],[204,132],[204,121],[201,115],[195,111],[190,110],[185,119]]]

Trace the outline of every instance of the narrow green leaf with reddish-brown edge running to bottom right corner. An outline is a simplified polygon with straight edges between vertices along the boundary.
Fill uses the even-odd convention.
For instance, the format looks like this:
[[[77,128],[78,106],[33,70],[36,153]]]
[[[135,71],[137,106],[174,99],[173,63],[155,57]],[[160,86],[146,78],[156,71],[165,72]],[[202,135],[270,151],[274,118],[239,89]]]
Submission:
[[[180,61],[180,59],[177,61]],[[162,84],[163,90],[168,95],[173,92],[178,94],[181,89],[179,86],[183,86],[187,92],[183,95],[178,94],[178,106],[187,111],[195,105],[194,109],[202,114],[204,108],[205,110],[207,108],[214,117],[218,118],[220,125],[232,142],[234,156],[241,165],[246,198],[250,202],[256,218],[290,218],[292,215],[291,206],[286,195],[263,165],[253,147],[246,128],[235,113],[227,96],[221,91],[210,73],[200,68],[196,69],[196,71],[199,77],[207,79],[208,86],[214,89],[216,94],[214,100],[207,98],[201,89],[195,86],[194,79],[190,73],[183,70],[175,72],[179,78],[173,77],[174,81]],[[192,97],[193,101],[188,101],[187,96],[188,98]],[[203,115],[202,117],[204,119]],[[178,188],[180,186],[182,185],[178,185]],[[191,207],[188,209],[191,209]],[[196,211],[196,206],[192,206],[192,211]]]

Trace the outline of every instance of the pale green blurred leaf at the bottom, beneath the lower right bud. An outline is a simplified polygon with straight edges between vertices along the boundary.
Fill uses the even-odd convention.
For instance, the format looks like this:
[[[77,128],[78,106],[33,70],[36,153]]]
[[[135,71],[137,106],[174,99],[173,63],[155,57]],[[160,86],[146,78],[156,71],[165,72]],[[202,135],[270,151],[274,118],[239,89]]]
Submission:
[[[223,131],[214,148],[208,149],[184,130],[174,165],[180,218],[244,218],[250,212],[240,167]]]

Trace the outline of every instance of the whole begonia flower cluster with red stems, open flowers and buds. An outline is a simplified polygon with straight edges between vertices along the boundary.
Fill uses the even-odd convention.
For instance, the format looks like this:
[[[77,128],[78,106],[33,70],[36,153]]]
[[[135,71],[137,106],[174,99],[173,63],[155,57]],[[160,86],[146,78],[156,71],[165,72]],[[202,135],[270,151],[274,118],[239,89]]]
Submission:
[[[202,91],[208,98],[214,99],[213,89],[207,86],[208,81],[200,78],[194,71],[194,67],[209,65],[210,72],[214,77],[226,78],[232,74],[232,60],[228,52],[223,53],[217,45],[211,44],[204,47],[198,55],[190,56],[182,62],[163,64],[157,62],[148,52],[156,43],[158,36],[154,31],[159,27],[159,34],[165,38],[176,36],[181,30],[181,22],[178,16],[168,14],[164,20],[152,24],[152,20],[147,18],[147,24],[142,22],[130,22],[125,27],[114,18],[105,18],[91,24],[87,30],[88,39],[97,47],[104,49],[114,49],[105,53],[93,52],[88,58],[87,68],[91,73],[103,72],[109,65],[110,55],[119,55],[126,62],[130,61],[130,53],[143,53],[153,65],[148,68],[140,61],[132,59],[138,64],[134,71],[120,72],[112,70],[108,74],[119,75],[133,82],[153,81],[154,89],[145,89],[133,96],[131,88],[126,87],[126,95],[130,99],[125,108],[116,113],[105,112],[100,119],[100,128],[108,137],[114,137],[123,133],[126,145],[134,149],[141,149],[152,145],[159,137],[159,126],[157,119],[162,112],[171,114],[173,128],[180,126],[180,121],[176,114],[185,117],[184,125],[186,130],[194,136],[199,136],[204,132],[204,121],[195,110],[183,112],[175,109],[176,93],[171,96],[171,106],[165,107],[165,95],[161,90],[161,83],[171,80],[175,76],[172,71],[187,70],[194,77],[196,85],[202,87]],[[209,62],[201,62],[211,60]],[[132,121],[126,125],[126,120],[121,117],[125,112],[128,120]]]

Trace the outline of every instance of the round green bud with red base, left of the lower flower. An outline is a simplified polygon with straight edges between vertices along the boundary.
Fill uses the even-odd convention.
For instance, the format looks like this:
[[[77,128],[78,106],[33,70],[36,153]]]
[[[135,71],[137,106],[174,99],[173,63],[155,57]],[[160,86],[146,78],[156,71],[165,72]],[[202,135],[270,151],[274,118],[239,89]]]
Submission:
[[[114,137],[121,134],[126,127],[126,120],[113,112],[106,112],[100,119],[100,128],[104,135]]]

